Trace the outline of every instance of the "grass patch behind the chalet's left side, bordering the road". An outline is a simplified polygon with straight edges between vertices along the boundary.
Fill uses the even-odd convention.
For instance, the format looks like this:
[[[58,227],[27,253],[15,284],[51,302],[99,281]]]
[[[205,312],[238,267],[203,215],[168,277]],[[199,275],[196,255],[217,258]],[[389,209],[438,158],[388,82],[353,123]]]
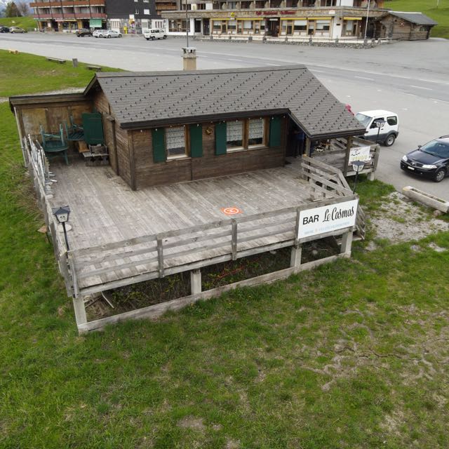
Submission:
[[[42,56],[29,53],[15,55],[0,50],[0,97],[86,87],[93,77],[93,72],[87,66],[79,62],[78,67],[72,67],[72,61],[58,64]],[[106,70],[119,71],[104,67],[103,71]]]

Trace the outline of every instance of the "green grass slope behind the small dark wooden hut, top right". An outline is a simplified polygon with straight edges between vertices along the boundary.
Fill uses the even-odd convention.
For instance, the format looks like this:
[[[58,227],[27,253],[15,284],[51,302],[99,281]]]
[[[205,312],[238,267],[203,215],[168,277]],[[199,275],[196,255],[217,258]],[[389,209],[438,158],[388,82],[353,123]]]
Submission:
[[[449,0],[387,0],[384,8],[394,11],[418,11],[428,15],[438,22],[431,30],[431,37],[445,37],[449,39]]]

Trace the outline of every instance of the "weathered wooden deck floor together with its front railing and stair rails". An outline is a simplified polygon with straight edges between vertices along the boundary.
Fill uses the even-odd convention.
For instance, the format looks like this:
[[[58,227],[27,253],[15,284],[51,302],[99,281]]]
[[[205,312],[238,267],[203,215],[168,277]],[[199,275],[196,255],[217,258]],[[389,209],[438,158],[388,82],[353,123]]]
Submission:
[[[292,246],[298,208],[351,196],[335,169],[311,168],[321,187],[304,179],[299,159],[136,192],[109,166],[75,162],[51,169],[58,182],[49,206],[72,210],[68,258],[76,296]],[[229,207],[241,213],[225,215],[222,208]],[[57,239],[64,248],[62,235]]]

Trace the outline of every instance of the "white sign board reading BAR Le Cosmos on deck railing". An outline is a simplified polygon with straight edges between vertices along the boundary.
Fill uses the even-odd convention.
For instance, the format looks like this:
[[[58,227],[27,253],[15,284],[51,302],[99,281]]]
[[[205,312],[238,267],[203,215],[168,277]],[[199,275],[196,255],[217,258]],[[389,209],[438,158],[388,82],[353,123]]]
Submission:
[[[356,224],[358,199],[300,211],[298,239],[337,231]]]

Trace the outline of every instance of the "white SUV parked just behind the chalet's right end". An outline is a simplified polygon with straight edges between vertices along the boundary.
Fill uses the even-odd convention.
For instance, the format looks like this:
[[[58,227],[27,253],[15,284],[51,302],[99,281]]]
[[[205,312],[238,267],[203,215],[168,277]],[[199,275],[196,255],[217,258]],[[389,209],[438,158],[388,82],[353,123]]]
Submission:
[[[394,112],[382,109],[363,111],[356,114],[356,119],[366,128],[365,135],[361,137],[371,142],[383,143],[385,147],[391,147],[399,135],[398,114]]]

